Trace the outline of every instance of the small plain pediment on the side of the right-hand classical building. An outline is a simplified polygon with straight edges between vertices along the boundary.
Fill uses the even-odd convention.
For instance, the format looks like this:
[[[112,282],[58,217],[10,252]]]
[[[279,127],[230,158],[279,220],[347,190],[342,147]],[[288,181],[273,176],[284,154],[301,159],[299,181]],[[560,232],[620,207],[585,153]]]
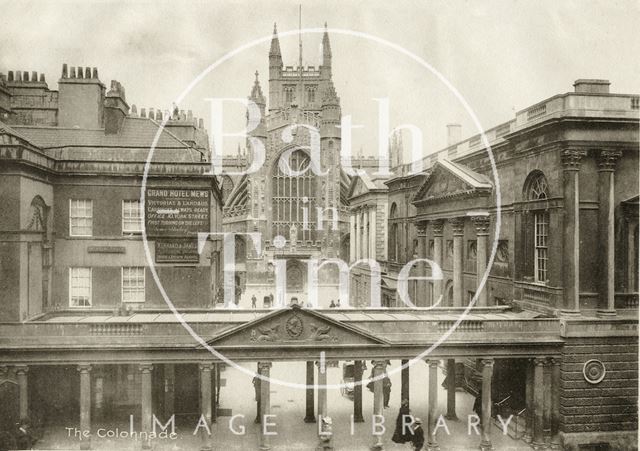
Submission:
[[[477,193],[488,194],[491,189],[492,184],[485,176],[460,164],[440,160],[434,165],[413,201],[423,203]]]

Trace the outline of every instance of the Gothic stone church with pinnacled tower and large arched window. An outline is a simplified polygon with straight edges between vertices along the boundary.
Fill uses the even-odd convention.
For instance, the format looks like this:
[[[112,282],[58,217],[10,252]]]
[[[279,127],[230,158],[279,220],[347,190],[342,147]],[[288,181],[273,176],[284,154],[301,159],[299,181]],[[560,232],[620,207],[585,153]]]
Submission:
[[[261,112],[260,124],[249,133],[247,161],[253,161],[250,139],[266,150],[260,170],[238,179],[226,199],[226,231],[259,232],[262,254],[249,237],[236,240],[236,293],[241,305],[255,294],[275,292],[274,260],[286,259],[287,293],[284,301],[305,302],[307,265],[304,260],[342,257],[348,260],[348,177],[340,167],[341,109],[332,81],[329,34],[322,38],[322,64],[284,66],[274,25],[269,50],[269,98],[259,74],[249,99]],[[317,152],[319,146],[319,153]],[[313,149],[316,149],[314,156]],[[248,164],[248,163],[247,163]],[[337,277],[323,271],[318,284],[323,298],[335,291]],[[328,299],[328,298],[327,298]],[[282,301],[282,299],[280,299]],[[329,300],[327,300],[328,304]],[[249,303],[249,304],[248,304]]]

